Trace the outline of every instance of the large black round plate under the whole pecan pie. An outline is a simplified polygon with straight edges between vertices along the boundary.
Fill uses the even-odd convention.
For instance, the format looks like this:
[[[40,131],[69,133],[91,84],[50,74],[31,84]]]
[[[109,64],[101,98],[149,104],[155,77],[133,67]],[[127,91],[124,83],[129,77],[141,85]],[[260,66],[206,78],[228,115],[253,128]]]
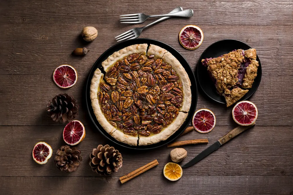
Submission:
[[[91,79],[93,77],[93,73],[97,68],[100,68],[100,70],[102,71],[102,73],[105,74],[103,67],[102,67],[102,62],[108,58],[108,56],[112,55],[115,51],[118,51],[120,49],[123,49],[127,46],[133,45],[133,44],[143,44],[143,43],[147,43],[149,44],[154,44],[157,46],[160,46],[164,49],[166,49],[167,51],[169,51],[173,56],[175,56],[178,61],[182,64],[182,66],[185,68],[190,82],[191,82],[191,94],[192,94],[192,99],[191,99],[191,106],[190,106],[190,110],[188,113],[188,116],[185,120],[185,122],[183,123],[183,125],[180,127],[180,129],[178,131],[176,131],[171,137],[169,137],[167,140],[164,141],[160,141],[159,143],[156,144],[151,144],[151,145],[147,145],[147,146],[130,146],[128,144],[122,143],[120,141],[117,141],[115,138],[113,138],[112,136],[110,136],[110,134],[108,134],[103,127],[101,127],[101,125],[99,124],[98,120],[96,119],[95,114],[93,113],[93,108],[91,106],[91,99],[90,99],[90,85],[91,85]],[[160,41],[156,41],[153,39],[130,39],[124,42],[120,42],[112,47],[110,47],[107,51],[105,51],[99,58],[98,60],[94,63],[91,72],[88,75],[88,80],[86,82],[86,106],[88,109],[88,113],[91,117],[91,120],[93,121],[94,125],[97,127],[97,129],[105,136],[107,137],[109,140],[115,142],[116,144],[120,145],[120,146],[124,146],[126,148],[129,149],[153,149],[153,148],[157,148],[160,146],[163,146],[171,141],[173,141],[174,139],[176,139],[184,130],[185,128],[188,126],[188,124],[190,123],[193,113],[195,112],[195,108],[196,108],[196,104],[197,104],[197,85],[196,85],[196,81],[195,81],[195,77],[193,74],[192,69],[190,68],[188,62],[185,60],[185,58],[178,52],[176,51],[176,49],[174,49],[173,47],[160,42]]]

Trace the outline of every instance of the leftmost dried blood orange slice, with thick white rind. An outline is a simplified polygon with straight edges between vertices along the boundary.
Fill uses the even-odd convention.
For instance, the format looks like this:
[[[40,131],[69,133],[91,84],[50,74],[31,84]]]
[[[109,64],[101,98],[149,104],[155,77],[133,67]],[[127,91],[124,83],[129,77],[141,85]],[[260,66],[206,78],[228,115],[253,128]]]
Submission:
[[[46,142],[38,142],[33,149],[33,159],[39,164],[47,163],[52,156],[52,148]]]

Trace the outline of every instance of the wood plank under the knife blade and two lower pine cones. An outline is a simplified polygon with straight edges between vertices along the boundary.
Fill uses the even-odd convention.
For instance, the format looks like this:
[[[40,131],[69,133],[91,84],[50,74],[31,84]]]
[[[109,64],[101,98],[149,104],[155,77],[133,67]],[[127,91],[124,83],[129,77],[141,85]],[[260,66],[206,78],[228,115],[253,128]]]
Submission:
[[[88,165],[89,154],[99,144],[110,144],[122,153],[123,166],[111,176],[121,177],[157,159],[157,168],[143,176],[161,176],[163,167],[170,162],[173,148],[162,146],[147,151],[133,151],[113,144],[91,126],[86,126],[86,137],[78,144],[83,161],[72,173],[66,174],[56,168],[54,155],[65,145],[60,126],[1,126],[0,176],[99,176]],[[190,132],[177,141],[208,139],[209,144],[182,146],[187,150],[184,164],[198,153],[212,145],[232,126],[215,127],[208,134]],[[184,169],[184,176],[293,176],[293,127],[255,126],[224,144],[220,149],[190,168]],[[33,161],[31,151],[35,143],[46,141],[52,146],[53,156],[45,165]],[[17,162],[16,162],[17,159]],[[12,163],[13,162],[13,163]],[[15,163],[16,162],[16,163]]]

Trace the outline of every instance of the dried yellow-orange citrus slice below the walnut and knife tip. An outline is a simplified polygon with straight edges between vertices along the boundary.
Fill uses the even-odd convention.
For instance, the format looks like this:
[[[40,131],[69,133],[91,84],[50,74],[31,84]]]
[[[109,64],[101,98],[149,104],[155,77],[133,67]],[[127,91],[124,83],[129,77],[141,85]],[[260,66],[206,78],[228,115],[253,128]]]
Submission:
[[[182,168],[177,163],[167,163],[163,170],[164,176],[170,181],[179,180],[182,177]]]

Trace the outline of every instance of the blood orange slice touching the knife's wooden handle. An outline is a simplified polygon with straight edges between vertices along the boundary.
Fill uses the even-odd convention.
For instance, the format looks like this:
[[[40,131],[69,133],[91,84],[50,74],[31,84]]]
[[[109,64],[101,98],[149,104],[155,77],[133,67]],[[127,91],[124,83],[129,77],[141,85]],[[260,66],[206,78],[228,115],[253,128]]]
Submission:
[[[251,101],[240,101],[232,110],[234,121],[242,126],[251,125],[258,116],[258,110]]]

